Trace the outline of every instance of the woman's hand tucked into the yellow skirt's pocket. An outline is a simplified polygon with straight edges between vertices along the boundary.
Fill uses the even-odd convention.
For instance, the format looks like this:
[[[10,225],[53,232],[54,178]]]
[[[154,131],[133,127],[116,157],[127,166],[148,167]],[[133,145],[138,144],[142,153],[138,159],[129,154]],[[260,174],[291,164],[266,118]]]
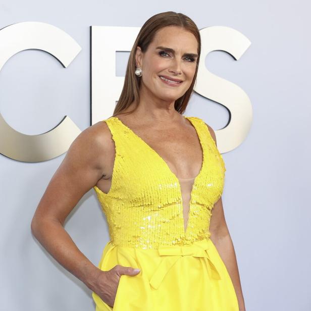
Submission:
[[[93,292],[95,292],[110,307],[114,306],[116,294],[122,274],[135,276],[140,270],[135,271],[134,268],[117,265],[108,271],[99,271],[96,276]]]

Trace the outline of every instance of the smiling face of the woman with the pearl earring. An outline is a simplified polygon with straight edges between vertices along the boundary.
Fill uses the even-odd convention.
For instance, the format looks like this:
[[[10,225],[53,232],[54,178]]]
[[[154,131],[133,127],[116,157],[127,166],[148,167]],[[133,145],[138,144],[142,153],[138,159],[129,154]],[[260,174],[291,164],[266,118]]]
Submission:
[[[145,53],[137,47],[136,64],[142,70],[140,91],[147,90],[162,100],[175,101],[190,87],[196,62],[197,40],[191,32],[177,26],[161,28]]]

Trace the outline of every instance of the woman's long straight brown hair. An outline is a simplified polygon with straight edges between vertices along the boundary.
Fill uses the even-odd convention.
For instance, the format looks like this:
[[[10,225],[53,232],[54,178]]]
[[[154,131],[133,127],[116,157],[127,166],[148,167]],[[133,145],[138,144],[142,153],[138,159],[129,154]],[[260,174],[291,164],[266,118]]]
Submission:
[[[183,114],[186,110],[186,107],[188,105],[190,96],[193,91],[193,86],[196,81],[196,75],[197,75],[197,69],[199,64],[199,58],[200,58],[200,51],[201,51],[201,37],[199,30],[195,23],[186,15],[182,13],[176,13],[176,12],[163,12],[156,14],[152,17],[150,17],[141,27],[137,38],[135,40],[135,43],[132,47],[130,57],[127,63],[127,69],[125,74],[125,80],[123,89],[120,95],[120,98],[118,100],[118,103],[115,107],[113,116],[120,114],[123,110],[128,108],[132,102],[136,103],[136,106],[134,110],[127,112],[132,113],[136,110],[139,103],[139,88],[140,88],[140,79],[141,77],[138,77],[135,75],[135,54],[137,46],[140,46],[142,53],[144,53],[149,44],[152,42],[155,33],[157,33],[158,30],[160,30],[163,27],[166,26],[179,26],[184,28],[185,30],[191,32],[198,43],[197,47],[197,54],[198,58],[196,61],[196,69],[194,73],[194,77],[192,80],[192,83],[189,87],[189,89],[184,93],[183,96],[175,100],[175,110],[178,111],[180,114]],[[125,114],[125,113],[123,113]]]

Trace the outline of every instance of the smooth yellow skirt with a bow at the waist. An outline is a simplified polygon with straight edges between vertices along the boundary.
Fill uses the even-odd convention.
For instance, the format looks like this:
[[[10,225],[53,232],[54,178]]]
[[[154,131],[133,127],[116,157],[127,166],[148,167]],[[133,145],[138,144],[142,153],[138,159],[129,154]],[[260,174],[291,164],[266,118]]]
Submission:
[[[121,275],[114,307],[95,292],[95,311],[238,311],[235,290],[214,243],[203,239],[185,246],[139,249],[109,241],[98,268],[121,265],[140,269]]]

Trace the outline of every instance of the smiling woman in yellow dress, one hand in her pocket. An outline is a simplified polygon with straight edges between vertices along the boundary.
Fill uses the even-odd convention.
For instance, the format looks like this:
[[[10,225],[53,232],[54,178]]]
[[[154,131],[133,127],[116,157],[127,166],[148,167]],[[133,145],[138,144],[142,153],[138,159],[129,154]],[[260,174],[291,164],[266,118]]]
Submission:
[[[146,21],[114,116],[75,139],[33,217],[35,237],[93,291],[96,311],[245,309],[215,133],[182,116],[200,44],[183,14]],[[98,267],[63,228],[92,187],[111,238]]]

